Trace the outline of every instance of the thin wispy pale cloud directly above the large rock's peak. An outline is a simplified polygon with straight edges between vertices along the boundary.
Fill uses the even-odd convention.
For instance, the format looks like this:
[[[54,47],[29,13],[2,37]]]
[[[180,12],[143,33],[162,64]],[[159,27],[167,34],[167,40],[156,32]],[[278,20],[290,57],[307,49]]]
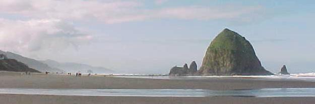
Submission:
[[[259,11],[262,7],[202,7],[186,6],[163,8],[158,11],[161,18],[180,18],[180,19],[234,19],[241,18],[245,14]],[[250,16],[250,15],[247,15]]]

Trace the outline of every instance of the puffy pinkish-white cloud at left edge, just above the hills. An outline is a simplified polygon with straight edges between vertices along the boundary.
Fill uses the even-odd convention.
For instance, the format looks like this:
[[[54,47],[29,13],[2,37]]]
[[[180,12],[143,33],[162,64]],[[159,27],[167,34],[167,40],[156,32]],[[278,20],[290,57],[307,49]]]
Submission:
[[[76,48],[92,39],[91,35],[59,19],[7,20],[0,18],[0,47],[27,52]]]

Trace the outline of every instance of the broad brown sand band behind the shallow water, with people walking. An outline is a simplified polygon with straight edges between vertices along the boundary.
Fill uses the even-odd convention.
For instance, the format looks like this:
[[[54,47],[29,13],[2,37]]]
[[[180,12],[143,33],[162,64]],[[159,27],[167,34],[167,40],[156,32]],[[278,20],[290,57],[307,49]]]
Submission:
[[[5,74],[5,75],[4,75]],[[315,81],[257,80],[242,77],[207,79],[154,79],[104,76],[31,74],[0,72],[0,88],[108,88],[108,89],[259,89],[315,87]]]

